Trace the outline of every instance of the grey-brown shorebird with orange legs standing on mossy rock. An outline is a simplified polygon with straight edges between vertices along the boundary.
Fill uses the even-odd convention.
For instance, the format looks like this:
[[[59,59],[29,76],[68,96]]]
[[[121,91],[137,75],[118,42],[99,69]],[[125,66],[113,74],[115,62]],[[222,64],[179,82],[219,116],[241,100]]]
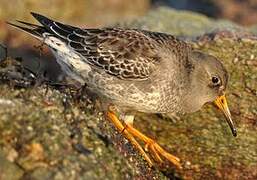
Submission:
[[[166,33],[79,28],[31,14],[40,25],[7,23],[46,44],[67,76],[87,84],[98,95],[107,119],[149,166],[162,163],[164,158],[182,167],[178,157],[134,128],[137,112],[185,114],[213,102],[225,115],[233,136],[237,136],[225,97],[228,71],[215,56]]]

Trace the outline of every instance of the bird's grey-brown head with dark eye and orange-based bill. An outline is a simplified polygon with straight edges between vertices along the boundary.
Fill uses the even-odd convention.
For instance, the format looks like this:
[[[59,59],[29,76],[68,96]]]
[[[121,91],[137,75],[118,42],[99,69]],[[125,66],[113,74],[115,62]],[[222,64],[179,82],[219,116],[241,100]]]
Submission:
[[[224,113],[232,134],[237,135],[236,128],[225,98],[228,72],[214,56],[193,51],[190,54],[193,69],[190,73],[190,85],[185,95],[184,107],[187,112],[196,111],[205,103],[214,102]]]

